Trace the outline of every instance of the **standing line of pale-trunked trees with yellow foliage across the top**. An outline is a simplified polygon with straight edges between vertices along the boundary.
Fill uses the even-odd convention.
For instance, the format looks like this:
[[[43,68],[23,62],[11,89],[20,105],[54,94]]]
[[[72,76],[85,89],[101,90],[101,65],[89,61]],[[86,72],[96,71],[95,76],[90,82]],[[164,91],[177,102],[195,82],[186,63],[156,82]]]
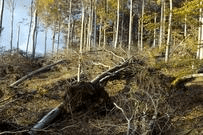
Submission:
[[[9,1],[13,28],[15,0]],[[2,27],[4,0],[1,6]],[[129,52],[158,48],[168,62],[177,46],[190,39],[193,44],[185,46],[196,51],[196,58],[203,59],[202,8],[202,0],[31,0],[26,52],[32,35],[35,56],[40,21],[46,29],[45,41],[47,28],[53,30],[52,53],[58,52],[63,36],[63,47],[79,47],[80,53],[107,46],[122,47]],[[10,36],[12,50],[13,29]],[[46,50],[45,42],[45,55]]]

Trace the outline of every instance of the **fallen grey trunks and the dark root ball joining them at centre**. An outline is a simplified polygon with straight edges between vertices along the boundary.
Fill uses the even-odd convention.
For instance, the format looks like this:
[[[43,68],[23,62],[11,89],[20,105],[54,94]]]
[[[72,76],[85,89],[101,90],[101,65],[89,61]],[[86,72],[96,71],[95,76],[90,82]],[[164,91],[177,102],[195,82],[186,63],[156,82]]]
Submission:
[[[43,119],[32,128],[30,134],[36,134],[36,132],[34,132],[35,130],[42,129],[50,124],[53,119],[64,110],[68,113],[88,111],[100,114],[107,111],[107,109],[110,110],[113,107],[113,103],[101,83],[106,84],[109,80],[118,79],[120,72],[123,72],[124,69],[129,66],[129,63],[133,61],[135,61],[135,59],[131,57],[124,63],[103,72],[91,82],[79,82],[68,87],[64,95],[64,102],[44,116]],[[140,63],[136,62],[136,64]],[[104,114],[106,114],[106,112]]]

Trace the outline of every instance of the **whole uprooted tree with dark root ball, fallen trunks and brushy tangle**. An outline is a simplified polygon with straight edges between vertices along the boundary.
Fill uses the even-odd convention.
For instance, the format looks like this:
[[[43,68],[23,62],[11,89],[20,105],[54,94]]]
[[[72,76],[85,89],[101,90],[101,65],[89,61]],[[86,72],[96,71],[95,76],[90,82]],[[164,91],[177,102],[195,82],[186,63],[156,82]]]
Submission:
[[[127,95],[121,91],[120,94],[109,97],[104,87],[109,81],[114,80],[126,80],[126,86],[134,85],[133,87],[136,87],[137,90],[134,92],[128,90],[130,94]],[[159,70],[148,67],[144,60],[131,57],[101,73],[90,82],[79,82],[69,86],[66,89],[63,103],[34,125],[30,134],[36,134],[38,130],[48,126],[64,112],[72,117],[77,112],[104,115],[115,107],[117,110],[121,110],[126,118],[128,133],[166,132],[170,127],[170,119],[165,112],[168,109],[168,105],[165,104],[167,102],[165,95],[170,94],[173,80],[174,78],[163,75]],[[125,105],[127,108],[130,107],[131,111],[125,113],[125,110],[128,109],[122,104],[117,105],[115,103],[117,98],[125,98],[124,101],[128,102]],[[129,115],[131,116],[128,117]],[[137,124],[132,127],[135,123]],[[165,126],[159,128],[160,125]]]

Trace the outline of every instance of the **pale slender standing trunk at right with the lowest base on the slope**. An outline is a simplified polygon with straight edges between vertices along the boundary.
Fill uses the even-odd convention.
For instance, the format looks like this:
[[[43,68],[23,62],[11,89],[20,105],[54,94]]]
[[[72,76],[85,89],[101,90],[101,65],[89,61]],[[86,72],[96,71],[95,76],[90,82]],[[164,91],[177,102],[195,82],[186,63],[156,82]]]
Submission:
[[[165,55],[166,63],[168,62],[169,51],[170,51],[171,20],[172,20],[172,0],[170,0],[170,14],[169,14],[169,21],[168,21],[168,38],[167,38],[167,43],[166,43],[166,55]]]

